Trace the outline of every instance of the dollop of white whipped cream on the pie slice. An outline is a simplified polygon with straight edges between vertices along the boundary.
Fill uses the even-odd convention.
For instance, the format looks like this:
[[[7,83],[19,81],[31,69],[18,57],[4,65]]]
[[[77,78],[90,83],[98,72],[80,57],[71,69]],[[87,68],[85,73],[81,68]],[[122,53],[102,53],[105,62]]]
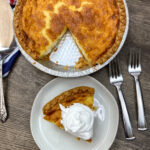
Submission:
[[[89,140],[93,136],[94,112],[87,106],[74,103],[65,108],[59,104],[61,109],[61,124],[65,131],[72,135]]]

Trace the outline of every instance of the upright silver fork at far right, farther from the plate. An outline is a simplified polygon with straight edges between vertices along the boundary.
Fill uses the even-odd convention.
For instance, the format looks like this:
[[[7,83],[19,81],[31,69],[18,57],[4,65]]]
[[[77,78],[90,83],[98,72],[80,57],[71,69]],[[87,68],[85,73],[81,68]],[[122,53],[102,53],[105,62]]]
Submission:
[[[141,92],[140,82],[139,82],[139,75],[141,74],[142,71],[140,51],[138,52],[130,51],[128,71],[135,79],[137,108],[138,108],[138,130],[144,131],[147,129],[147,125],[146,125],[145,114],[144,114],[142,92]]]

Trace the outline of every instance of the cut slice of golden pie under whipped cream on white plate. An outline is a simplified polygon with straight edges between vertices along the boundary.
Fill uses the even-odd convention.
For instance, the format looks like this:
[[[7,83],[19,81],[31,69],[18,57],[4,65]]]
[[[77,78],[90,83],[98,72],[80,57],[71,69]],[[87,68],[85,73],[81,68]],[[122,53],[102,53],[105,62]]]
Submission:
[[[87,86],[80,86],[61,93],[43,107],[44,119],[64,129],[61,124],[61,109],[59,104],[64,107],[80,103],[94,109],[94,89]]]

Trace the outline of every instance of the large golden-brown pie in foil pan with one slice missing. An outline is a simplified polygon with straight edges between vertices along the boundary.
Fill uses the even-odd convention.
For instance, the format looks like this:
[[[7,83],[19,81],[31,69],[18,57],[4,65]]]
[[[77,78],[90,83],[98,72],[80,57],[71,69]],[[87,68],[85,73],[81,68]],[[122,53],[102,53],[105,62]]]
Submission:
[[[35,60],[52,52],[69,30],[88,65],[118,49],[126,26],[123,0],[18,0],[15,33]]]

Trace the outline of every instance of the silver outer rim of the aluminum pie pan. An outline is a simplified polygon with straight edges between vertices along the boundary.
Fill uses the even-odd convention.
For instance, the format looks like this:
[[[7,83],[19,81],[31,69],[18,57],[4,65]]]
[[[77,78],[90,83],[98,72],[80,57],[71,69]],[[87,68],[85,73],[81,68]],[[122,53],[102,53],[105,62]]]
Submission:
[[[121,51],[121,49],[122,49],[122,47],[123,47],[123,45],[125,43],[125,40],[126,40],[127,34],[128,34],[128,30],[129,30],[129,11],[128,11],[126,0],[123,0],[123,2],[124,2],[124,6],[125,6],[125,11],[126,11],[126,27],[125,27],[125,31],[124,31],[124,34],[123,34],[123,38],[122,38],[122,41],[121,41],[117,51],[105,63],[103,63],[102,65],[96,65],[96,66],[93,66],[93,67],[88,68],[86,70],[79,71],[79,72],[62,72],[62,71],[58,71],[58,70],[53,70],[52,68],[45,67],[44,65],[42,65],[39,62],[37,62],[36,60],[34,60],[31,56],[29,56],[25,52],[25,50],[23,50],[23,48],[21,47],[21,45],[20,45],[20,43],[19,43],[19,41],[18,41],[18,39],[16,37],[16,34],[15,34],[15,40],[16,40],[17,46],[19,47],[22,55],[34,67],[36,67],[37,69],[39,69],[39,70],[41,70],[41,71],[43,71],[43,72],[45,72],[47,74],[58,76],[58,77],[81,77],[81,76],[92,74],[92,73],[102,69],[107,64],[109,64],[117,56],[117,54]]]

